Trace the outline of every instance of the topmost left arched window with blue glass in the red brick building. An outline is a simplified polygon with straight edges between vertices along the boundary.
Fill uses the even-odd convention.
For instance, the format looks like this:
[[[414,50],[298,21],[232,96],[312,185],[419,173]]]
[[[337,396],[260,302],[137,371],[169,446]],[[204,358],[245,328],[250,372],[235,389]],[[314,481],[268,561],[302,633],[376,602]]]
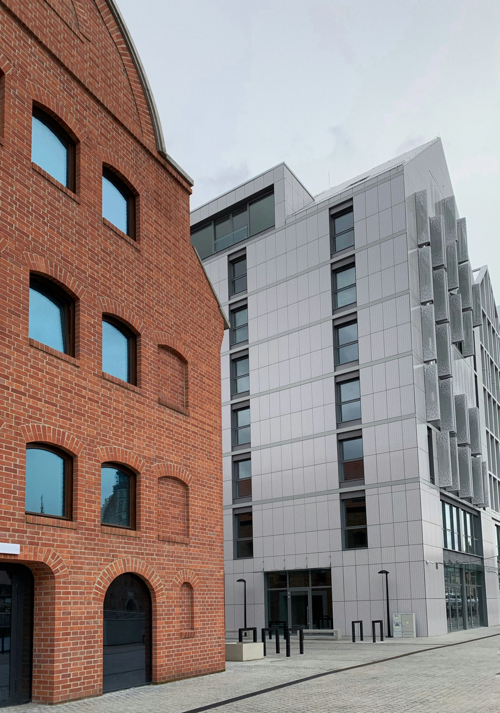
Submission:
[[[33,108],[31,160],[75,190],[75,144],[57,121],[38,108]]]

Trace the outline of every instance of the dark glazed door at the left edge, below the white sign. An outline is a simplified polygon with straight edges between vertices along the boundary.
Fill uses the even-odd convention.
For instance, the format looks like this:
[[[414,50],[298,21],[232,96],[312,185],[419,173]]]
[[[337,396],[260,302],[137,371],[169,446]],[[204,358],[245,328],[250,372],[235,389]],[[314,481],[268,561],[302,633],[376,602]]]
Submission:
[[[0,706],[31,700],[33,575],[0,565]]]

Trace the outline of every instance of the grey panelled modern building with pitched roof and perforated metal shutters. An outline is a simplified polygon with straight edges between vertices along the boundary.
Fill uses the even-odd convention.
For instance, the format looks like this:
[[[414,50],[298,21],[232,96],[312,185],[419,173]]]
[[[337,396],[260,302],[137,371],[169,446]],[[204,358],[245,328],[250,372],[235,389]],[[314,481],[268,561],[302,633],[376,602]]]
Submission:
[[[192,212],[222,346],[226,628],[500,623],[500,327],[438,139]],[[473,239],[473,238],[472,238]]]

